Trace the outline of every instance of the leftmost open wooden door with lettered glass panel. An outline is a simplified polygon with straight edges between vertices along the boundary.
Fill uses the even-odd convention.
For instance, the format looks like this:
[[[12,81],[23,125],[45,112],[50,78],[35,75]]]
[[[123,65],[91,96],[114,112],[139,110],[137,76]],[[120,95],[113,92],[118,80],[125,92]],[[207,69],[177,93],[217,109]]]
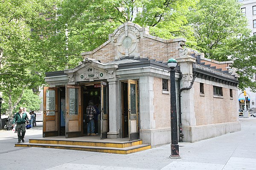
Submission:
[[[43,137],[58,136],[58,88],[44,87]]]

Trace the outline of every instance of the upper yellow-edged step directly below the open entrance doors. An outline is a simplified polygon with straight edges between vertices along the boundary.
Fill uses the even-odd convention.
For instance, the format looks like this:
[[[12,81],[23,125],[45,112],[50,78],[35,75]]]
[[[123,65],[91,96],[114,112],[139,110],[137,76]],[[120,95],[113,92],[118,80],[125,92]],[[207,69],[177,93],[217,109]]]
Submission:
[[[131,147],[143,144],[141,139],[127,142],[104,142],[104,141],[81,141],[81,140],[64,140],[64,139],[29,139],[29,143],[33,144],[62,144],[62,145],[77,145],[77,146],[92,146],[92,147]]]

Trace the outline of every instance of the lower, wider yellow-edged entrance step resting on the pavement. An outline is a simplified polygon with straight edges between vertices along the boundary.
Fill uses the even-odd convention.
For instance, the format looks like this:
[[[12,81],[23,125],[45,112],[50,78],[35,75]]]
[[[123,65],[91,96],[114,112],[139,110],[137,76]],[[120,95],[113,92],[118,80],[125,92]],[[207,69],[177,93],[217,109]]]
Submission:
[[[33,140],[33,139],[30,139]],[[30,141],[29,140],[29,141]],[[151,148],[149,144],[138,144],[130,147],[99,147],[99,146],[83,146],[83,145],[68,145],[68,144],[40,144],[40,143],[20,143],[15,144],[15,147],[45,147],[55,149],[70,149],[70,150],[84,150],[92,152],[103,152],[103,153],[118,153],[118,154],[129,154]]]

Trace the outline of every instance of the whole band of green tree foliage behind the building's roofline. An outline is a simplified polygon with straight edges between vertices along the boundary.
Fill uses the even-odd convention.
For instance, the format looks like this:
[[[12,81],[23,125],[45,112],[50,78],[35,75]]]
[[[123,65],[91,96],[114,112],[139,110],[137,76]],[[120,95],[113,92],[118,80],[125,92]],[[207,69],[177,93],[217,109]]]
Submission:
[[[0,2],[0,90],[5,93],[44,85],[45,72],[74,68],[82,60],[81,52],[102,45],[126,21],[164,39],[185,37],[186,44],[205,57],[233,59],[241,75],[254,71],[253,51],[242,49],[253,48],[248,42],[254,39],[248,36],[247,20],[236,0]],[[253,85],[243,76],[240,80],[244,82],[239,88]]]

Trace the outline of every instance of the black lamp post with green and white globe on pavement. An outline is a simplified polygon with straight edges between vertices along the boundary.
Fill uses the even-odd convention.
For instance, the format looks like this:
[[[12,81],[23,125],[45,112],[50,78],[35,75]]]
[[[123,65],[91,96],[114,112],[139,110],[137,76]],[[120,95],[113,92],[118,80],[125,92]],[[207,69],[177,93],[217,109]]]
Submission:
[[[171,79],[171,155],[170,158],[180,156],[178,145],[178,130],[177,130],[177,107],[176,107],[176,86],[175,86],[175,70],[177,60],[171,58],[168,60],[167,65],[170,70]]]

